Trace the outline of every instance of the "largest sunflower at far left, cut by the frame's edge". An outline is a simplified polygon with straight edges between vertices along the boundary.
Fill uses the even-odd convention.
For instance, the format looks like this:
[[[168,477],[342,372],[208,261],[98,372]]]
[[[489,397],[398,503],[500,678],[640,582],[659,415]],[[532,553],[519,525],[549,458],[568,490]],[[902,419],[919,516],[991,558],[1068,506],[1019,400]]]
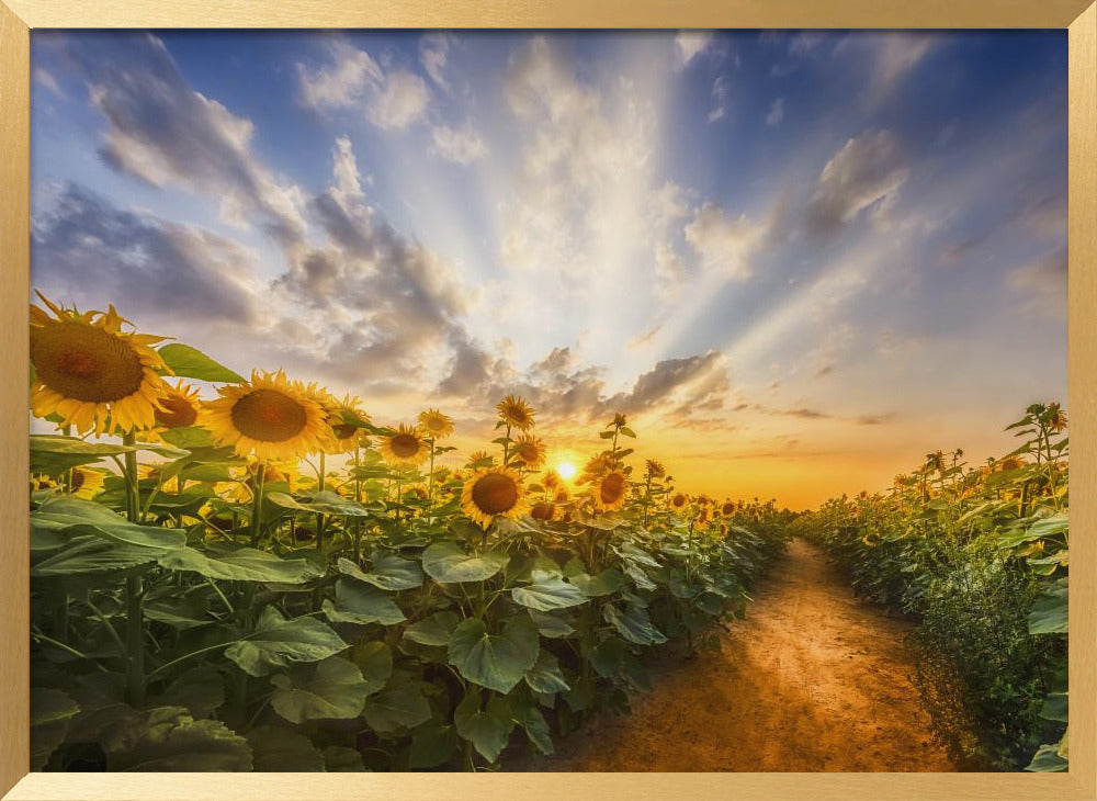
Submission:
[[[54,316],[31,306],[31,411],[97,436],[151,428],[170,371],[150,346],[163,337],[123,334],[114,306],[80,314],[38,297]]]

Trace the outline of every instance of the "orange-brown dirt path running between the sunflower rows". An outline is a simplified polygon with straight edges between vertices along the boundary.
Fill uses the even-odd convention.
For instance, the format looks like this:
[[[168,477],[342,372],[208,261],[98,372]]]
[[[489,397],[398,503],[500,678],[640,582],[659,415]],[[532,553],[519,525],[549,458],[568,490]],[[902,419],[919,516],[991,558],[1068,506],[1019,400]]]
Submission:
[[[530,767],[953,771],[907,678],[907,629],[794,540],[719,652],[654,666],[631,715],[596,721]]]

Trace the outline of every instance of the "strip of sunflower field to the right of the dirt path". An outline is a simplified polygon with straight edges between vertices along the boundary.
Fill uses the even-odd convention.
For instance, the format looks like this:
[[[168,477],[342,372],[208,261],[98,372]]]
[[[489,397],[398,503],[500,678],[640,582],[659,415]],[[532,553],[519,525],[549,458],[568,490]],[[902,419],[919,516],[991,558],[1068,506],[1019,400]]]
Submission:
[[[891,490],[792,523],[860,595],[917,621],[916,684],[968,768],[1070,764],[1066,422],[1059,404],[1033,404],[1002,459],[936,451]]]

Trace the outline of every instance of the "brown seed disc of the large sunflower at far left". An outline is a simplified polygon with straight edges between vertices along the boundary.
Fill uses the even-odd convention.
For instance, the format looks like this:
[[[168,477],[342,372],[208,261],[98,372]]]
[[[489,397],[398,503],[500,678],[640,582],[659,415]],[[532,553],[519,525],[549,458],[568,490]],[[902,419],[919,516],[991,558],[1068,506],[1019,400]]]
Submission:
[[[129,342],[80,323],[32,328],[31,361],[43,384],[87,403],[128,397],[140,388],[145,374]]]

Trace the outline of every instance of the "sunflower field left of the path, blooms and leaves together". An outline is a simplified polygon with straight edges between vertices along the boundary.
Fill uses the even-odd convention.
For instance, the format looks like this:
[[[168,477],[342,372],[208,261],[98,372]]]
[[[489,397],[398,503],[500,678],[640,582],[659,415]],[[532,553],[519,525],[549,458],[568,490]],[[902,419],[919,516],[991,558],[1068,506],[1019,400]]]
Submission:
[[[376,425],[355,397],[245,379],[113,307],[43,302],[31,411],[56,428],[30,445],[34,770],[548,754],[586,717],[626,712],[648,654],[711,645],[787,541],[772,503],[689,496],[631,464],[621,415],[566,481],[521,397],[462,456],[440,410]],[[1031,542],[1015,544],[1030,563]]]

